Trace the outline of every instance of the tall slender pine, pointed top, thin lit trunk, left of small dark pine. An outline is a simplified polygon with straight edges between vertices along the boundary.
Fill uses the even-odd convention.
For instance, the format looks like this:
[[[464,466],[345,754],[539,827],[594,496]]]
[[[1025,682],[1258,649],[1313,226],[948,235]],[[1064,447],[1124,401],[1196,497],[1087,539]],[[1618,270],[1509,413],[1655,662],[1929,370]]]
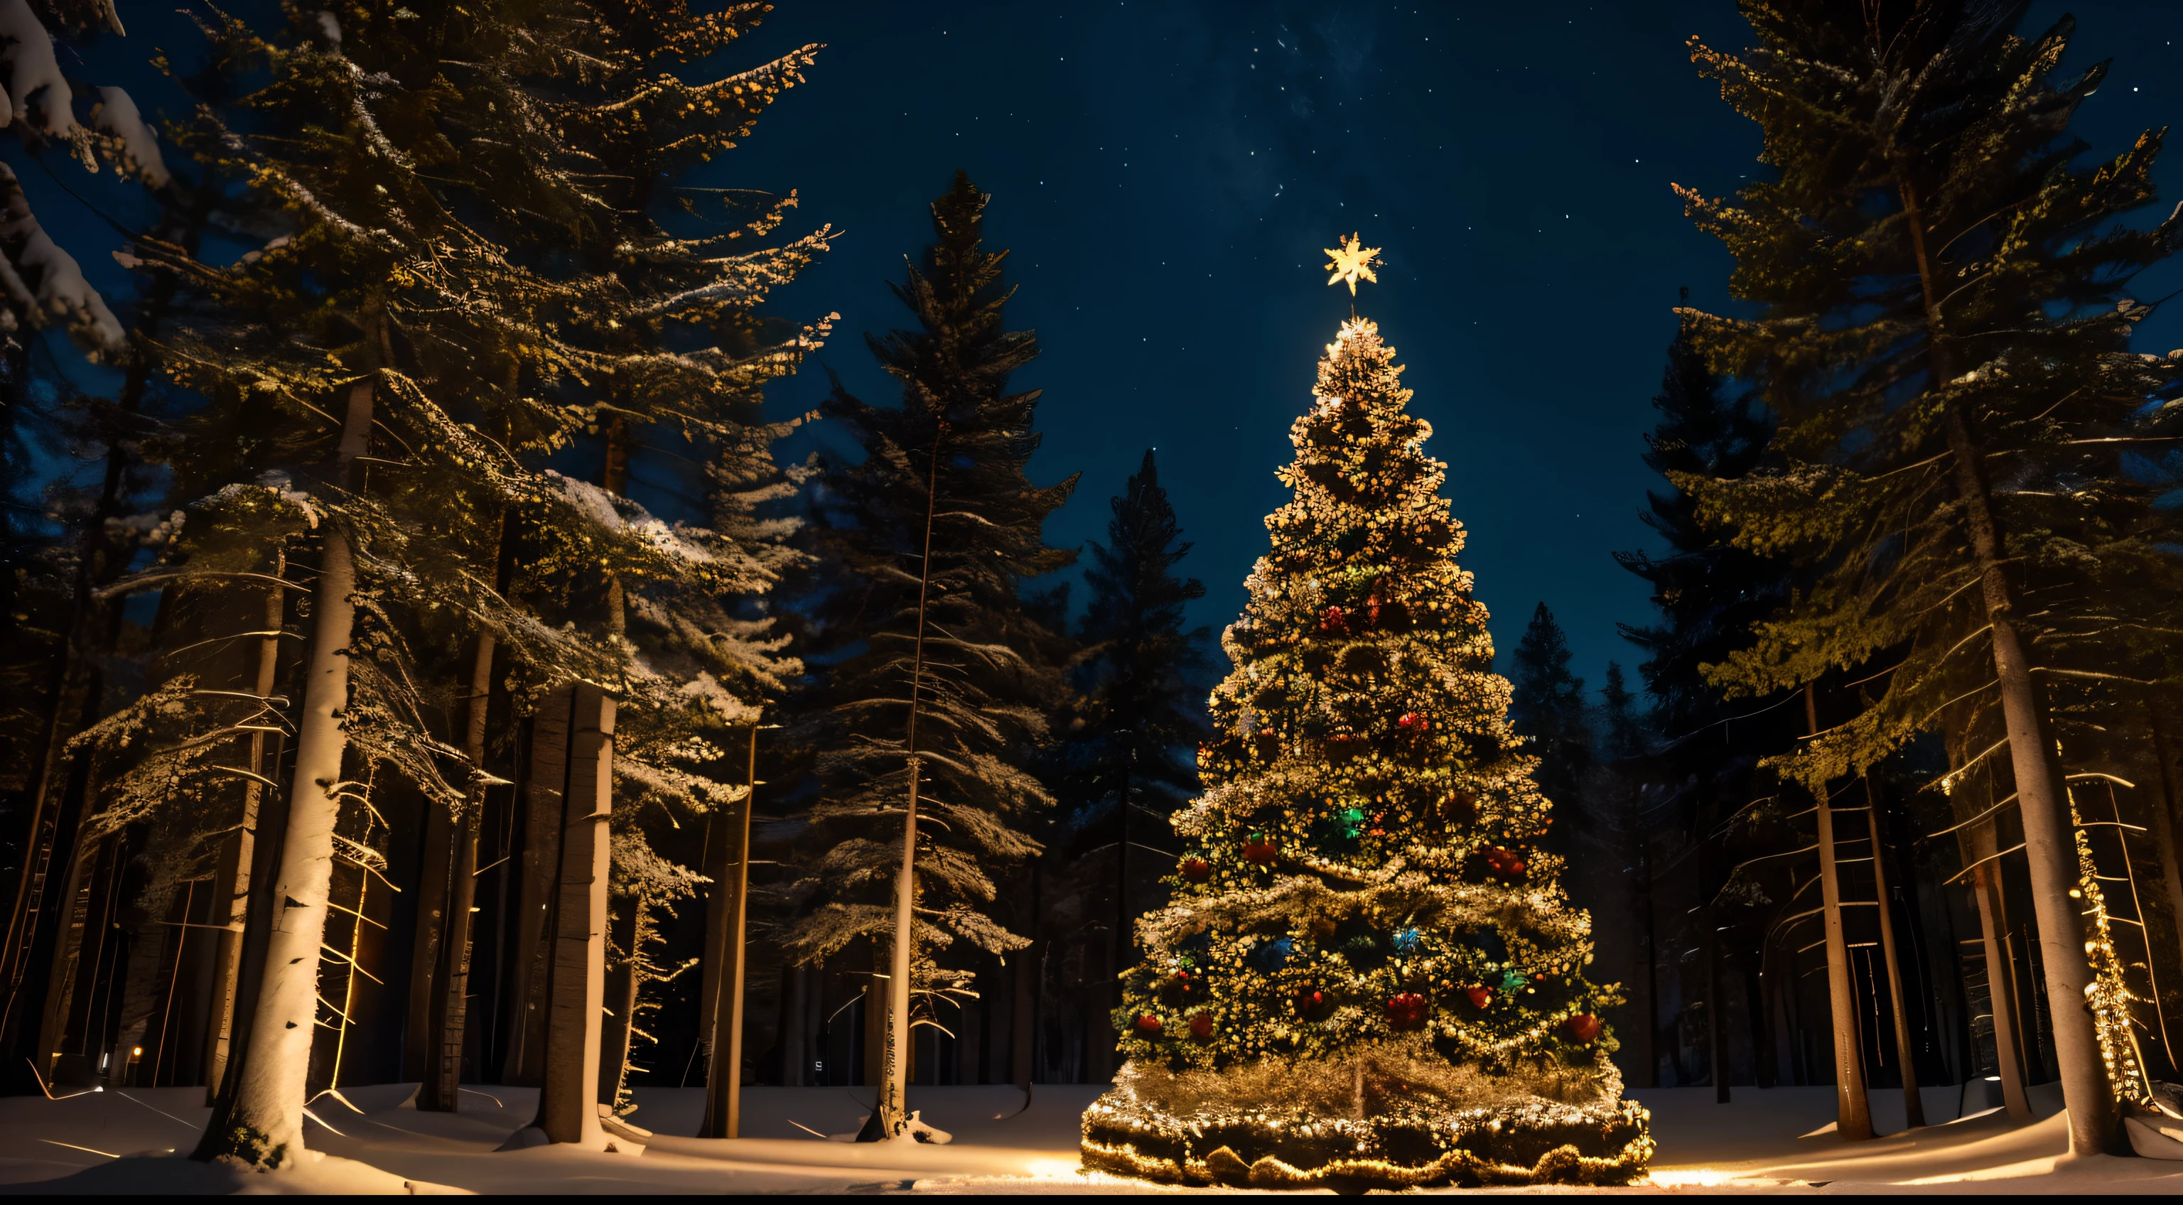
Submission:
[[[902,406],[845,389],[827,404],[864,458],[823,480],[834,574],[810,602],[803,655],[840,659],[801,705],[803,738],[819,747],[808,810],[816,908],[788,947],[816,961],[867,941],[895,967],[875,1133],[906,1120],[910,1026],[969,991],[947,947],[1024,945],[991,917],[993,880],[1037,854],[1022,825],[1052,803],[1026,766],[1065,690],[1065,642],[1033,618],[1022,583],[1072,561],[1041,528],[1076,478],[1039,487],[1024,472],[1041,439],[1039,391],[1011,393],[1009,378],[1039,349],[1030,332],[1002,325],[1006,253],[982,247],[985,205],[956,172],[932,203],[932,247],[895,286],[917,330],[869,338],[902,382]],[[906,806],[919,814],[915,871]],[[904,888],[915,893],[908,943],[895,939]]]

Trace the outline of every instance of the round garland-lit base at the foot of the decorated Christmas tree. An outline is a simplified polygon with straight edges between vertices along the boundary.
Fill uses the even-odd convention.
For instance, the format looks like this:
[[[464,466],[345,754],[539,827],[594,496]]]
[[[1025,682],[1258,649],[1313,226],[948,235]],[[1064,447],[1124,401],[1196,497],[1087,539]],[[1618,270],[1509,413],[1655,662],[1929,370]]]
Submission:
[[[1631,1183],[1653,1159],[1648,1113],[1537,1100],[1450,1113],[1319,1118],[1301,1111],[1179,1115],[1126,1087],[1085,1111],[1089,1170],[1249,1188]]]

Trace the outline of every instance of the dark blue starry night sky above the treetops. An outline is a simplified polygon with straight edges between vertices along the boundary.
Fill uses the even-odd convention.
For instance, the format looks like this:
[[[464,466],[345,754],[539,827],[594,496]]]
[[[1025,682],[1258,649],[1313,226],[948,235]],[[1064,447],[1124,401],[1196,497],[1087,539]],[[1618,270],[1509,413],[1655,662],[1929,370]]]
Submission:
[[[2041,2],[2026,28],[2063,11]],[[2083,28],[2069,65],[2115,61],[2076,122],[2098,153],[2183,118],[2183,4],[2072,11]],[[168,48],[188,61],[199,41],[170,4],[124,15],[127,39],[98,39],[63,65],[172,116],[179,96],[148,57]],[[803,207],[790,229],[845,231],[773,303],[799,321],[843,314],[812,371],[773,391],[792,415],[823,397],[821,367],[893,399],[860,336],[906,319],[886,282],[928,242],[928,201],[967,168],[993,194],[989,242],[1013,249],[1011,325],[1035,327],[1046,349],[1017,378],[1046,391],[1033,476],[1083,472],[1048,539],[1105,539],[1109,496],[1157,448],[1196,541],[1185,568],[1209,587],[1194,618],[1216,629],[1242,605],[1262,520],[1286,496],[1273,469],[1290,458],[1288,423],[1349,314],[1349,293],[1325,286],[1321,249],[1362,234],[1386,266],[1358,312],[1380,321],[1408,365],[1412,406],[1436,428],[1428,450],[1450,463],[1447,493],[1469,526],[1463,563],[1498,646],[1513,651],[1546,600],[1596,688],[1609,657],[1639,659],[1615,622],[1650,618],[1644,583],[1611,552],[1650,535],[1637,513],[1657,478],[1637,456],[1670,306],[1679,286],[1694,303],[1729,306],[1729,260],[1668,183],[1720,194],[1759,170],[1755,127],[1690,65],[1692,33],[1749,44],[1729,0],[779,0],[720,70],[803,41],[827,48],[810,83],[694,183],[795,188]],[[76,196],[122,225],[151,207],[59,155],[17,172],[94,284],[127,295],[105,253],[118,234]],[[2170,151],[2159,179],[2168,203],[2183,196],[2183,153]],[[2166,205],[2139,220],[2157,216]],[[2183,266],[2137,293],[2174,288]],[[2163,314],[2139,349],[2179,343],[2183,323]],[[784,454],[808,450],[803,439]]]

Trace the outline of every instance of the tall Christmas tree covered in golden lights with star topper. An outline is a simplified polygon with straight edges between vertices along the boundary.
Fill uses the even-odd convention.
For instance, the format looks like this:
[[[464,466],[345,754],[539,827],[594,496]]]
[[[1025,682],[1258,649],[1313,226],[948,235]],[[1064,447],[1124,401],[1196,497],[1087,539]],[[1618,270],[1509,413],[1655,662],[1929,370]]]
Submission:
[[[1174,816],[1174,902],[1137,921],[1092,1168],[1334,1188],[1646,1168],[1600,1022],[1620,995],[1585,980],[1591,919],[1539,849],[1539,760],[1399,378],[1351,319],[1290,428],[1295,498],[1222,635],[1205,792]]]

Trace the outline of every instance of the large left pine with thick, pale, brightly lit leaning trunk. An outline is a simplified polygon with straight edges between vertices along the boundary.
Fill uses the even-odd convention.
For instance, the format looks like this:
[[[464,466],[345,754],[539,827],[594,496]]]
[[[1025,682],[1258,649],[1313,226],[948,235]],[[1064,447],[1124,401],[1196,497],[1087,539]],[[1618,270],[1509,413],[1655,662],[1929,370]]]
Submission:
[[[205,314],[162,345],[168,375],[207,399],[166,448],[181,496],[201,498],[192,509],[203,535],[179,541],[164,581],[258,572],[299,539],[317,544],[321,563],[312,583],[312,670],[297,716],[297,790],[286,801],[279,856],[269,860],[273,891],[255,893],[303,908],[288,908],[269,932],[251,1024],[238,1024],[247,1033],[201,1157],[269,1166],[301,1148],[334,860],[373,860],[354,834],[336,832],[343,803],[369,814],[358,788],[371,782],[373,766],[384,766],[450,814],[476,808],[485,779],[469,766],[454,773],[467,762],[465,740],[439,712],[450,685],[474,694],[482,675],[454,653],[487,646],[478,635],[489,635],[517,696],[570,677],[646,677],[624,672],[624,642],[546,622],[496,589],[506,522],[522,520],[526,576],[511,589],[526,596],[548,594],[576,576],[572,570],[718,583],[729,576],[720,565],[738,561],[705,533],[670,528],[640,509],[603,502],[596,487],[533,467],[583,432],[592,413],[585,391],[600,378],[677,371],[755,380],[764,365],[792,362],[808,341],[795,332],[773,349],[744,347],[740,358],[705,347],[666,356],[631,343],[629,325],[707,330],[720,314],[740,312],[733,299],[703,290],[688,299],[637,295],[611,271],[548,275],[554,262],[544,255],[546,269],[524,264],[526,242],[515,231],[544,238],[535,214],[559,214],[565,229],[583,231],[611,212],[611,199],[594,196],[578,179],[596,157],[561,133],[576,127],[581,135],[585,127],[561,122],[520,83],[526,70],[548,70],[533,59],[541,50],[524,35],[526,13],[496,7],[458,20],[452,7],[424,15],[343,7],[295,11],[290,26],[271,35],[236,17],[207,20],[216,55],[262,72],[264,83],[234,103],[207,98],[183,131],[186,146],[218,179],[247,181],[266,207],[262,225],[286,225],[288,234],[220,271],[157,240],[140,244],[146,262],[196,290]],[[581,46],[563,52],[583,57]],[[806,59],[792,55],[771,76],[712,90],[624,76],[644,103],[598,120],[644,124],[657,116],[653,105],[688,109],[714,92],[727,98],[731,87],[771,96]],[[493,63],[506,72],[487,70]],[[227,127],[223,114],[238,109],[251,120]],[[744,103],[712,109],[742,114]],[[343,120],[327,124],[325,114]],[[465,155],[437,122],[480,146],[522,146],[528,155],[489,164],[491,155]],[[696,138],[692,155],[729,140],[729,131]],[[515,166],[530,175],[517,177]],[[613,258],[607,249],[600,255]],[[808,258],[755,251],[709,269],[699,253],[683,260],[685,275],[742,295],[738,286],[775,279],[771,269],[799,255]],[[661,369],[661,360],[670,365]],[[749,389],[738,399],[747,402]],[[692,423],[720,423],[714,410],[685,413]],[[740,426],[736,437],[758,439]],[[186,683],[177,683],[179,694],[188,694]],[[240,723],[210,714],[199,696],[164,703],[168,712],[144,716],[192,729],[172,744],[177,751],[210,749],[199,738]],[[127,736],[129,723],[116,723],[114,733]],[[148,786],[153,777],[138,782]],[[133,799],[148,806],[155,795]],[[175,790],[157,799],[183,801]]]

